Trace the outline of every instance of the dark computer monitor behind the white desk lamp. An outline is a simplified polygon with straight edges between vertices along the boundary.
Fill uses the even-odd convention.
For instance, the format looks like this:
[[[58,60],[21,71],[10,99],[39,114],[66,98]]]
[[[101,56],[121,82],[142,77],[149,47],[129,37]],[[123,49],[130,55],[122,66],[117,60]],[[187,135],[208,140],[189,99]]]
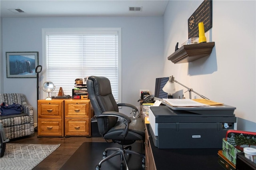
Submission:
[[[163,91],[163,87],[167,83],[168,80],[169,80],[169,77],[156,78],[154,97],[157,97],[157,98],[160,98],[160,99],[167,99],[168,98],[168,93]]]

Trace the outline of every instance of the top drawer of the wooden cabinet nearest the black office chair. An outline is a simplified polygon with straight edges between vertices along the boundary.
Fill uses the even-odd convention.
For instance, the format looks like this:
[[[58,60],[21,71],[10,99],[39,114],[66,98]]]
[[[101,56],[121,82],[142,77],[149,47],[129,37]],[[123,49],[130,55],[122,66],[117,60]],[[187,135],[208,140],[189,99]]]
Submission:
[[[66,118],[84,118],[88,119],[90,115],[89,102],[66,102],[65,101],[65,117]]]

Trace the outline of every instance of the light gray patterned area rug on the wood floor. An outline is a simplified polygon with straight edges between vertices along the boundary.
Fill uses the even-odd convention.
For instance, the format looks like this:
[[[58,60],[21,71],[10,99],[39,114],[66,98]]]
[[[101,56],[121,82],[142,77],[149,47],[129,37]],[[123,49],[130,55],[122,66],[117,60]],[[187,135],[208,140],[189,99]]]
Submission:
[[[4,156],[0,158],[0,170],[32,170],[59,146],[6,143]]]

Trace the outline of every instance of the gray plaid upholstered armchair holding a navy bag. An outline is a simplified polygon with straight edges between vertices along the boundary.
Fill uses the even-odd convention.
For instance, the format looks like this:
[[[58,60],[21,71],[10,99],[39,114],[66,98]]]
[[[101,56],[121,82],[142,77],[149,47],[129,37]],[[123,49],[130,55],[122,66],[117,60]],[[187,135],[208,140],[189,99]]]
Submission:
[[[34,111],[33,107],[27,104],[25,95],[21,93],[0,94],[0,103],[3,102],[6,104],[18,103],[24,108],[22,114],[0,116],[6,137],[12,139],[34,134]]]

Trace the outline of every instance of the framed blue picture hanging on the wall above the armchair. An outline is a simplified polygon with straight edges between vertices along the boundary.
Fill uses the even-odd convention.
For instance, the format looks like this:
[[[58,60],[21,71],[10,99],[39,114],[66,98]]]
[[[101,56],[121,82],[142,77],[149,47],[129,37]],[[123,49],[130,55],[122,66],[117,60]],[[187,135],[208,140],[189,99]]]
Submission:
[[[38,51],[6,52],[7,78],[36,78]]]

